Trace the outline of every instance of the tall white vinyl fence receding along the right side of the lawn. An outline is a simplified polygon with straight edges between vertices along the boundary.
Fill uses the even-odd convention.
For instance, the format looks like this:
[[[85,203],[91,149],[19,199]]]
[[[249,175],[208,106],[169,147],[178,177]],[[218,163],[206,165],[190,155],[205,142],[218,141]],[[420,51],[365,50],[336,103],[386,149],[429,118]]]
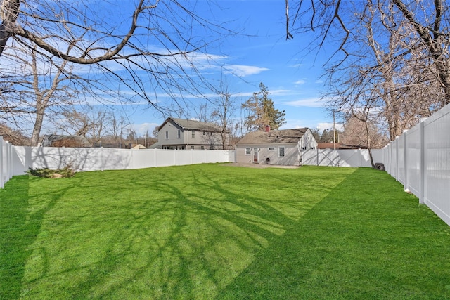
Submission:
[[[383,149],[386,171],[450,226],[450,105]]]

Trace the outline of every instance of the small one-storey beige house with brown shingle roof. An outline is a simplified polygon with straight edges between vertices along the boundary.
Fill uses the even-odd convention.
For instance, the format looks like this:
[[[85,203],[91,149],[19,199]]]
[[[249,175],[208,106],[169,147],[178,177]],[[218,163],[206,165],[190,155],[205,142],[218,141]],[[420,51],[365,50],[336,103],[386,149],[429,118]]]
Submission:
[[[302,151],[316,149],[317,142],[308,128],[254,131],[236,144],[236,162],[302,165]]]

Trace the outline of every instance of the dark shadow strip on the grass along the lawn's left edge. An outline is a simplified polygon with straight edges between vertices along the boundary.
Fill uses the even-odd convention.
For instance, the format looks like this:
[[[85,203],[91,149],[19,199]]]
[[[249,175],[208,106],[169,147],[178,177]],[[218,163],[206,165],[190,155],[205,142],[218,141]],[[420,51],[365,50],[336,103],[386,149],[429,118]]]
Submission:
[[[39,235],[46,211],[62,191],[40,209],[30,207],[28,176],[15,176],[0,190],[0,299],[18,299],[23,287],[28,249]]]

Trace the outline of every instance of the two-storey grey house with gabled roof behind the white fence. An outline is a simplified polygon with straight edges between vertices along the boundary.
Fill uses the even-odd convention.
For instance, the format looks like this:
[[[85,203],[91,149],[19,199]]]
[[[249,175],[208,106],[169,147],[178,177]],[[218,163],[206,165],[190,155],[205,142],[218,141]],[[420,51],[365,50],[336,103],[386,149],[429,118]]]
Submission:
[[[226,141],[228,142],[228,133]],[[222,149],[221,127],[210,122],[169,117],[158,127],[158,149]]]

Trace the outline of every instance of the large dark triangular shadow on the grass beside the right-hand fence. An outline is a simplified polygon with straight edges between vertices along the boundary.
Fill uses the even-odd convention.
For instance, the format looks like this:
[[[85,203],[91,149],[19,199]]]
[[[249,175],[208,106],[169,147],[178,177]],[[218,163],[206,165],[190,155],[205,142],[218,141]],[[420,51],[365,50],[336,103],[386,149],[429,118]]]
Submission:
[[[349,175],[216,299],[449,299],[448,226],[378,172]]]

